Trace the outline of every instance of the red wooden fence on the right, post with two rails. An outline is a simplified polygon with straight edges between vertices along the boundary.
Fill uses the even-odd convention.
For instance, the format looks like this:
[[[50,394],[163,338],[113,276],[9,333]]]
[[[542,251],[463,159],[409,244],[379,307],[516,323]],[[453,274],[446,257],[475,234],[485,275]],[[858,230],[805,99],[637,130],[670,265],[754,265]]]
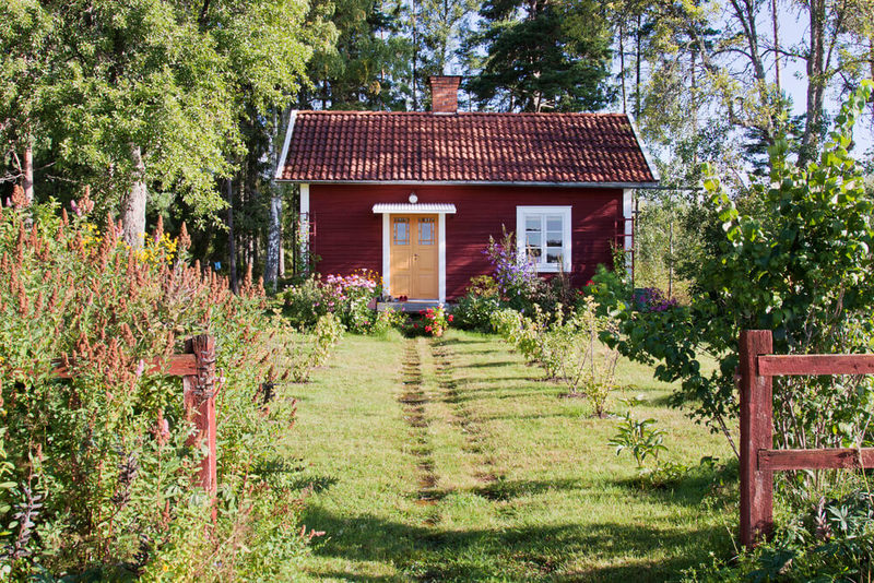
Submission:
[[[772,378],[874,374],[874,355],[773,355],[770,330],[741,332],[741,543],[773,532],[773,473],[874,466],[874,448],[775,450]]]

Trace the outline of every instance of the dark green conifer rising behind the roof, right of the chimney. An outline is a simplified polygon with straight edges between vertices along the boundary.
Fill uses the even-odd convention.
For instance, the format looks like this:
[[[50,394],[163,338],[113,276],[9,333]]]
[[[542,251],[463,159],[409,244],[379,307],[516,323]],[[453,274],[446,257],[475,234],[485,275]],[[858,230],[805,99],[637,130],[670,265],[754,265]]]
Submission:
[[[469,47],[486,57],[468,88],[481,106],[508,111],[603,107],[610,32],[599,2],[486,0]]]

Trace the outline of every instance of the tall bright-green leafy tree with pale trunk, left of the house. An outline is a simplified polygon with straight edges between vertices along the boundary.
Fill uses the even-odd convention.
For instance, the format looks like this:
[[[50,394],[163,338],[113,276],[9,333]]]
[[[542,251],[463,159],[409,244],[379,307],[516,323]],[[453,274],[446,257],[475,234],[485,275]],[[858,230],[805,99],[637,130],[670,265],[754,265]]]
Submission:
[[[314,39],[303,0],[14,2],[48,33],[13,40],[40,62],[40,91],[33,112],[13,100],[8,117],[38,120],[49,155],[121,210],[132,245],[150,199],[180,197],[199,217],[224,206],[216,178],[243,151],[244,105],[286,103]]]

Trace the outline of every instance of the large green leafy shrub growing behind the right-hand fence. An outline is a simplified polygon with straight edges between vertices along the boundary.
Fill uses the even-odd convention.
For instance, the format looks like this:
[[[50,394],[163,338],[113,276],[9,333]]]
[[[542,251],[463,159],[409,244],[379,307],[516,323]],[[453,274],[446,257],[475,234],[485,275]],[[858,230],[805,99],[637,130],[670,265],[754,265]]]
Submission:
[[[870,349],[872,199],[848,148],[871,92],[865,83],[843,106],[818,163],[800,168],[787,162],[783,141],[770,148],[770,177],[754,186],[757,204],[747,205],[756,214],[741,214],[716,178],[705,182],[725,239],[701,266],[689,306],[638,312],[618,274],[595,277],[595,297],[621,322],[621,334],[606,334],[605,341],[630,358],[658,362],[660,380],[681,380],[673,403],[690,405],[729,439],[728,419],[737,411],[740,330],[772,330],[778,354]],[[705,358],[718,362],[714,371],[705,371]],[[775,390],[776,442],[804,448],[866,439],[874,411],[870,386],[840,377],[781,379]]]

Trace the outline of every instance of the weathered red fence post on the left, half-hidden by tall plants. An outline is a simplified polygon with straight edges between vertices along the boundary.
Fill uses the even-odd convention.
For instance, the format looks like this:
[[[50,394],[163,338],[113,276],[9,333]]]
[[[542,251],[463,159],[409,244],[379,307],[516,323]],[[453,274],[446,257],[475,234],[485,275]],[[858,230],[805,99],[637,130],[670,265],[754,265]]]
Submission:
[[[188,445],[199,448],[205,439],[206,456],[200,463],[198,479],[211,497],[217,487],[215,463],[215,338],[201,334],[186,341],[186,352],[194,355],[197,374],[182,377],[185,409],[197,432]],[[214,512],[214,509],[213,509]]]

